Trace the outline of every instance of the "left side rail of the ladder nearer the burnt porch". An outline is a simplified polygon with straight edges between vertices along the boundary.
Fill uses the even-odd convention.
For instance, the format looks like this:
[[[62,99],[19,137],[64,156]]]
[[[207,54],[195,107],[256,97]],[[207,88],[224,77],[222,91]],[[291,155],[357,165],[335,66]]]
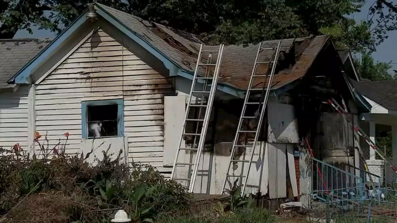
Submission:
[[[236,131],[236,134],[235,134],[234,139],[233,139],[233,144],[232,144],[231,154],[230,154],[230,162],[229,162],[229,166],[227,167],[226,177],[225,177],[224,185],[222,187],[222,193],[225,190],[225,186],[226,186],[228,175],[229,175],[229,170],[230,170],[231,163],[232,163],[231,160],[233,160],[233,156],[234,156],[234,153],[235,153],[235,150],[236,150],[237,139],[239,137],[241,124],[243,123],[243,116],[245,114],[246,103],[248,102],[248,98],[250,96],[250,88],[251,88],[251,85],[252,85],[252,82],[253,82],[253,76],[254,76],[254,74],[256,72],[257,62],[258,62],[258,58],[259,58],[259,55],[260,55],[260,49],[261,48],[262,48],[262,42],[260,42],[260,44],[258,46],[258,52],[256,53],[254,67],[252,68],[252,72],[251,72],[251,78],[250,78],[250,81],[249,81],[249,84],[248,84],[248,87],[247,87],[247,91],[245,93],[244,104],[243,104],[243,108],[241,110],[241,114],[240,114],[240,118],[239,118],[239,124],[237,125],[237,131]]]

